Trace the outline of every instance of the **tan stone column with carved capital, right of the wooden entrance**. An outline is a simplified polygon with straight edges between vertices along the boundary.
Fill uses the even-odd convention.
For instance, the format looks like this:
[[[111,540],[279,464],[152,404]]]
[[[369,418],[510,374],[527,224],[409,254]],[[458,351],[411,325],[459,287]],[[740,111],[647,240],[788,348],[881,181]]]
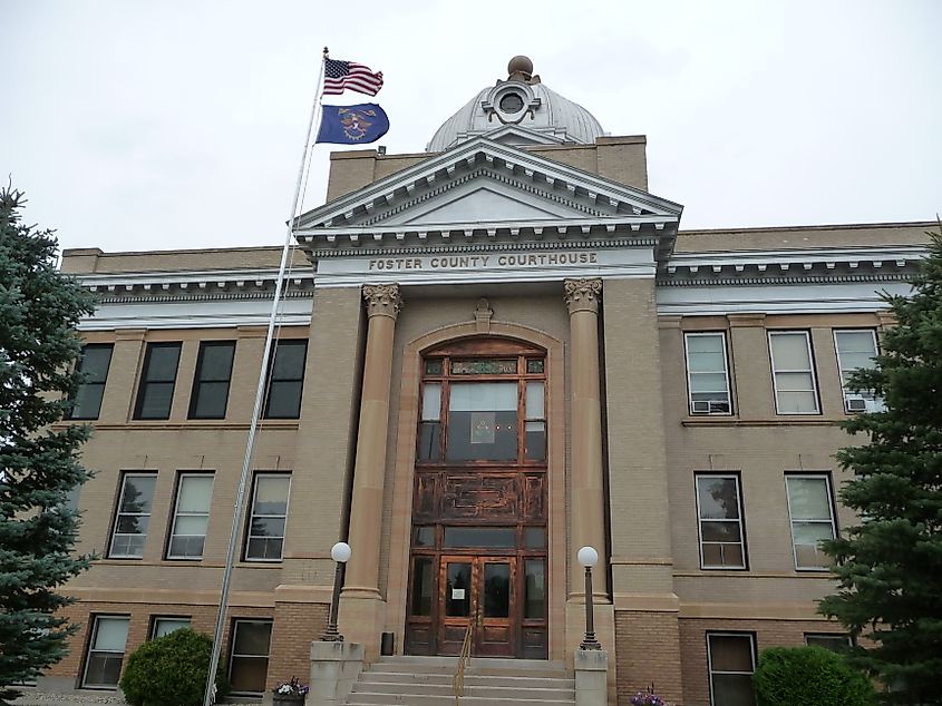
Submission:
[[[566,280],[570,311],[570,392],[572,394],[572,556],[571,594],[582,595],[580,548],[594,547],[602,559],[592,572],[593,596],[608,601],[605,496],[602,483],[602,398],[599,370],[599,297],[602,281]]]

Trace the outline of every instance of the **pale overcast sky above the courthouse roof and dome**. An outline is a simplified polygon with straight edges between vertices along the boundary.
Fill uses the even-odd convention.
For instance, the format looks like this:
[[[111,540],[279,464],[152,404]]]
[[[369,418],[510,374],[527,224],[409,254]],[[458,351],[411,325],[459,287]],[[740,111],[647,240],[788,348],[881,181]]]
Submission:
[[[382,70],[390,153],[525,53],[608,133],[648,136],[684,229],[930,220],[940,28],[938,0],[0,0],[0,175],[64,247],[280,244],[326,45]]]

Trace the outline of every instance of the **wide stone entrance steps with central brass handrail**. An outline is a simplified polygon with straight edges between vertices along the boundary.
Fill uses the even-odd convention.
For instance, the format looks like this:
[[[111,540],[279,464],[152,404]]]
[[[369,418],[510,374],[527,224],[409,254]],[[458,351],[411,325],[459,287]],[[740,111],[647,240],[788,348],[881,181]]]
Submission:
[[[455,706],[457,657],[381,657],[362,671],[348,706]],[[574,706],[575,680],[559,661],[472,657],[462,706]]]

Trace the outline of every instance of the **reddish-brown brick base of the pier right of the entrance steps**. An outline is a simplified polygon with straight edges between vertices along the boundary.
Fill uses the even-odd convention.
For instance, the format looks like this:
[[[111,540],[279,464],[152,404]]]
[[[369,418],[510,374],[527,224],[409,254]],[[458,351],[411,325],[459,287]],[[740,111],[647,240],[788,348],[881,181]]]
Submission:
[[[653,684],[659,696],[680,706],[680,629],[674,612],[615,611],[619,706]]]

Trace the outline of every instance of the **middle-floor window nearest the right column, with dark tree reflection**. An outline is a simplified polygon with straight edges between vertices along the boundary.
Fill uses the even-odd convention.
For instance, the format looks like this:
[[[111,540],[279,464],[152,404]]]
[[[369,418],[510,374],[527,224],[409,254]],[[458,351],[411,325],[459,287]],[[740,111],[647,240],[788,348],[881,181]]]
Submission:
[[[738,477],[697,475],[701,568],[746,568],[740,507]]]

